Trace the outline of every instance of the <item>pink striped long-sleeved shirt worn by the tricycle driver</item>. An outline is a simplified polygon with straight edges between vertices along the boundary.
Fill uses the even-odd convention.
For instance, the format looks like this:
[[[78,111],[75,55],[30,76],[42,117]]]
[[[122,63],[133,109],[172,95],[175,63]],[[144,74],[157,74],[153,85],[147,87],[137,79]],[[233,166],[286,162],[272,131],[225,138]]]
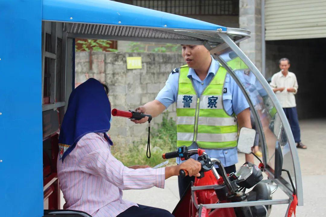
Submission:
[[[138,153],[135,153],[137,155]],[[93,217],[115,217],[136,203],[123,200],[122,190],[164,188],[165,169],[129,169],[111,155],[103,133],[88,133],[62,163],[58,178],[66,204]]]

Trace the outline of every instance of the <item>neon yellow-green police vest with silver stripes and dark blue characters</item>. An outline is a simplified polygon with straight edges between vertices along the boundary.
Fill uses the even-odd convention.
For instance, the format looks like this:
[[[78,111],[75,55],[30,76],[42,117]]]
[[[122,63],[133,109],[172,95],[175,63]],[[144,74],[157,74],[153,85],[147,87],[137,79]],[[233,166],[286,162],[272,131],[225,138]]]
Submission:
[[[226,149],[237,146],[238,124],[223,106],[223,86],[227,71],[219,67],[210,84],[197,97],[189,67],[179,70],[177,96],[177,146],[196,142],[200,148]]]

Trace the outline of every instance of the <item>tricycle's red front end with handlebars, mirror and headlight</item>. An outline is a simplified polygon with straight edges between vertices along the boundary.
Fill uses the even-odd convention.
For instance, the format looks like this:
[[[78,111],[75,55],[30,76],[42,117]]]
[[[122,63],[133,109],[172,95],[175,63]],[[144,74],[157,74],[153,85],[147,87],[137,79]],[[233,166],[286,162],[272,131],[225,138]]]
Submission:
[[[251,154],[255,140],[254,129],[240,130],[238,146],[239,152]],[[272,200],[272,194],[277,185],[263,179],[263,164],[259,166],[245,162],[235,173],[227,174],[223,164],[217,158],[210,158],[202,149],[188,150],[186,146],[175,152],[163,154],[164,159],[180,157],[189,159],[198,154],[201,163],[200,177],[191,182],[173,210],[176,217],[260,217],[269,216],[271,204],[279,200]],[[215,164],[218,168],[215,168]],[[217,172],[217,170],[219,170]],[[180,170],[180,176],[186,176],[187,171]],[[205,180],[204,180],[205,179]],[[246,189],[250,189],[245,193]]]

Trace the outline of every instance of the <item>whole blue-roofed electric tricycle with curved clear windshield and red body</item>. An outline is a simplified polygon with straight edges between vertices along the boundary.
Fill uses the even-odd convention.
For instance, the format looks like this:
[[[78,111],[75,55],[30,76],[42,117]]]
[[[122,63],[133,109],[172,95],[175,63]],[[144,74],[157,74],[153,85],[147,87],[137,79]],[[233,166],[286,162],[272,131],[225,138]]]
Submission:
[[[60,124],[74,88],[76,38],[204,45],[242,89],[262,147],[259,170],[246,163],[228,176],[220,165],[223,180],[218,181],[212,167],[206,174],[212,172],[216,183],[189,187],[181,203],[191,201],[187,206],[194,211],[185,216],[197,215],[195,210],[208,216],[221,210],[224,216],[259,216],[265,208],[268,215],[273,204],[289,204],[285,216],[290,216],[296,205],[303,206],[300,163],[287,118],[265,78],[237,46],[250,31],[108,0],[1,1],[0,29],[1,216],[90,216],[59,210],[56,173]],[[200,157],[205,166],[218,164],[204,152]],[[267,179],[257,183],[260,171]],[[273,189],[260,183],[274,183],[286,197],[267,197]],[[244,192],[252,186],[256,195]],[[260,197],[260,188],[267,194]],[[212,190],[215,199],[199,197],[199,203],[200,190]]]

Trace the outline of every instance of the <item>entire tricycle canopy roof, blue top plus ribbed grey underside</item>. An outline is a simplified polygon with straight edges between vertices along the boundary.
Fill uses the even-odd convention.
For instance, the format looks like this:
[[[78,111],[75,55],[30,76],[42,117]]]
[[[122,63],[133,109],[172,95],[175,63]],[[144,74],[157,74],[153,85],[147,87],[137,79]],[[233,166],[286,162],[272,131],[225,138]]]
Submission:
[[[68,37],[218,46],[226,33],[238,43],[250,31],[109,0],[43,0],[42,20],[67,23]]]

